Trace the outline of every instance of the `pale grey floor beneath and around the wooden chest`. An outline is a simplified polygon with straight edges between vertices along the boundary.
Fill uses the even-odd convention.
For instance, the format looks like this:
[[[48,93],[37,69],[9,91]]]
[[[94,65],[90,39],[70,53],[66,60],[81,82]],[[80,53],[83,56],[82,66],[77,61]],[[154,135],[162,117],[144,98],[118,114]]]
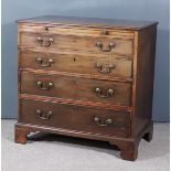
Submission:
[[[40,135],[13,142],[15,120],[2,120],[2,171],[169,171],[169,124],[154,124],[151,142],[141,140],[138,159],[121,160],[106,142]]]

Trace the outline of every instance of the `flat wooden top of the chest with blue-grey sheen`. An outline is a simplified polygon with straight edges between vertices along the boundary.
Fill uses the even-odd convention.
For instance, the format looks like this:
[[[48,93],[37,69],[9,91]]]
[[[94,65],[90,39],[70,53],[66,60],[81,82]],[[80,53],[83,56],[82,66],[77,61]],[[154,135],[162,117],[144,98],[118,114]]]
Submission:
[[[18,22],[84,25],[89,28],[103,26],[103,28],[124,29],[124,30],[141,30],[158,24],[158,22],[150,22],[150,21],[113,20],[113,19],[99,19],[99,18],[61,17],[61,15],[43,15],[31,19],[18,20]]]

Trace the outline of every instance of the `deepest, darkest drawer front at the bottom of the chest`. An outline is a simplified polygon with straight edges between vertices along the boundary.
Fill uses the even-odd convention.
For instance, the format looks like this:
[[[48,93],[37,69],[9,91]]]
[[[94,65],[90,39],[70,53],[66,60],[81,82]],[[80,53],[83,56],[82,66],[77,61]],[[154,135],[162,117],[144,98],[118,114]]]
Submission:
[[[129,137],[130,114],[96,107],[21,99],[19,122],[104,136]]]

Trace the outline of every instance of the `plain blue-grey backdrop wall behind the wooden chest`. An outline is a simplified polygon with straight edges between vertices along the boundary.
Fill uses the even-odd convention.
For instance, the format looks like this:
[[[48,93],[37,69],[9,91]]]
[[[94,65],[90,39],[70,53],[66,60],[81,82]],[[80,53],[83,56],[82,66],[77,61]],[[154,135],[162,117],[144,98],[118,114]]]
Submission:
[[[2,118],[17,118],[17,23],[44,14],[159,21],[153,120],[169,121],[169,0],[2,0]]]

